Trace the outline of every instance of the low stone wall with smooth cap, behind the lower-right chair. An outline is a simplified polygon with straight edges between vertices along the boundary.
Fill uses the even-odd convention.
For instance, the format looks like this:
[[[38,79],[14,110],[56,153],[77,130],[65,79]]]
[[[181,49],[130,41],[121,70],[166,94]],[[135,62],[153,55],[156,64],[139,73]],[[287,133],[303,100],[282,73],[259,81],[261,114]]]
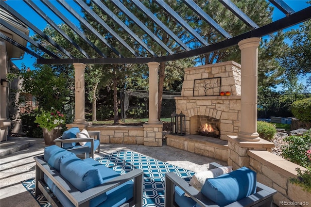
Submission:
[[[277,206],[311,206],[311,193],[289,181],[297,176],[297,167],[301,170],[305,168],[268,151],[249,150],[247,154],[250,157],[249,167],[257,172],[257,180],[277,191],[273,196]]]

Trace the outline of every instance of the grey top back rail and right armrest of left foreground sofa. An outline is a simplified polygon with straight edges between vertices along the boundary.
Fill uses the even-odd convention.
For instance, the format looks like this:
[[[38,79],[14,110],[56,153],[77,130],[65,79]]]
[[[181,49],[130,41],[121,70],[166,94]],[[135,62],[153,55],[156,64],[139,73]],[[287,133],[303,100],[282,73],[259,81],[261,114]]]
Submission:
[[[74,186],[72,186],[59,172],[52,168],[44,159],[43,156],[35,157],[36,162],[36,191],[42,189],[40,183],[43,179],[43,174],[47,175],[52,182],[66,195],[66,197],[75,205],[88,205],[90,199],[109,191],[122,183],[125,183],[131,179],[134,179],[134,204],[137,206],[142,206],[142,189],[143,189],[143,171],[135,169],[124,175],[115,177],[108,182],[94,187],[92,189],[80,192]],[[37,187],[39,185],[39,187]],[[41,184],[42,185],[42,184]],[[42,190],[41,190],[42,191]],[[37,194],[37,192],[36,192]]]

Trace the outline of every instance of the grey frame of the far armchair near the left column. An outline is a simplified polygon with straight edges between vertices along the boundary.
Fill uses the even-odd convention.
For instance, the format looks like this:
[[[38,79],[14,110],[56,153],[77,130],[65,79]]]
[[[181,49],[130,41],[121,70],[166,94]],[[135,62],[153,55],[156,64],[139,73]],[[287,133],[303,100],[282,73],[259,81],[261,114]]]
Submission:
[[[58,137],[57,139],[54,140],[54,143],[56,146],[59,146],[63,148],[63,143],[79,143],[79,142],[91,142],[91,149],[89,150],[88,153],[88,148],[87,146],[80,146],[78,148],[75,148],[75,154],[84,154],[83,159],[86,158],[94,158],[94,153],[96,149],[94,149],[94,140],[101,140],[101,132],[100,131],[87,131],[90,138],[70,138],[70,139],[63,139],[63,136]],[[97,150],[98,153],[100,151],[101,145],[98,146]]]

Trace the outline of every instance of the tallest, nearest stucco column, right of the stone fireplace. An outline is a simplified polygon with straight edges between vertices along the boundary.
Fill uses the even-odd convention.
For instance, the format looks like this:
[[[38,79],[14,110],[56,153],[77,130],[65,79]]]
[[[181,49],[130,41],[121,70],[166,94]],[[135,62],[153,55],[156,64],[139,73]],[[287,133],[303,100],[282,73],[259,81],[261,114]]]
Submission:
[[[241,130],[243,141],[260,140],[257,132],[258,46],[260,38],[253,37],[238,43],[241,49]]]

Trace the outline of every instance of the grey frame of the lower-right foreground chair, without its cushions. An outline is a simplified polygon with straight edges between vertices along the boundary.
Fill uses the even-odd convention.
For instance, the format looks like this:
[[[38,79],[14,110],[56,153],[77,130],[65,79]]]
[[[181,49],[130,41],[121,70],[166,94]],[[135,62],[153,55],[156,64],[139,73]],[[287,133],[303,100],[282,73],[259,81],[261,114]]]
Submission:
[[[209,163],[209,169],[218,167],[223,166],[216,162]],[[178,207],[174,201],[175,186],[180,187],[183,191],[188,193],[188,195],[201,207],[219,207],[173,172],[165,174],[165,207]],[[226,207],[272,207],[273,195],[276,194],[276,192],[276,190],[257,182],[256,193],[231,203]]]

